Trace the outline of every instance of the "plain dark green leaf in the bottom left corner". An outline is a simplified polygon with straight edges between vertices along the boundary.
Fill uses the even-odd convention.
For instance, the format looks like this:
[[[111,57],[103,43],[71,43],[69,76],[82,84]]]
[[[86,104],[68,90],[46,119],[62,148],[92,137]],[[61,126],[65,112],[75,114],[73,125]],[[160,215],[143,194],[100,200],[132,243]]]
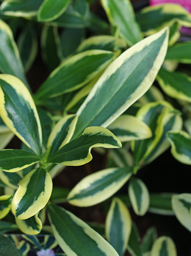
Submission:
[[[19,249],[16,248],[15,243],[11,241],[11,239],[0,235],[0,248],[1,248],[1,256],[22,256],[23,254]]]

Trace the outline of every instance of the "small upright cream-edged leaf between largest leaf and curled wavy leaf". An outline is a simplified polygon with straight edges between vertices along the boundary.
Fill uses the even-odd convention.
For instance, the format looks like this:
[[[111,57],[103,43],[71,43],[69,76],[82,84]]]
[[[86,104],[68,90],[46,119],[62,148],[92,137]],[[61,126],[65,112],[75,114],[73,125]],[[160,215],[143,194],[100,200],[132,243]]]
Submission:
[[[50,154],[67,144],[74,132],[78,117],[75,115],[67,115],[60,119],[50,133],[47,147],[51,146]]]

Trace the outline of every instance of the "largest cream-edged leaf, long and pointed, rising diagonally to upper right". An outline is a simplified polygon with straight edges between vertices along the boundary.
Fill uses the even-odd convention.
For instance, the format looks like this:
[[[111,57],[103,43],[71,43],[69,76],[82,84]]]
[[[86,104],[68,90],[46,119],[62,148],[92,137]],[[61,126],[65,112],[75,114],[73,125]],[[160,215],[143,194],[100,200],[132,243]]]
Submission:
[[[150,88],[166,54],[167,41],[168,29],[164,29],[132,46],[108,66],[77,112],[76,136],[88,126],[107,127]]]

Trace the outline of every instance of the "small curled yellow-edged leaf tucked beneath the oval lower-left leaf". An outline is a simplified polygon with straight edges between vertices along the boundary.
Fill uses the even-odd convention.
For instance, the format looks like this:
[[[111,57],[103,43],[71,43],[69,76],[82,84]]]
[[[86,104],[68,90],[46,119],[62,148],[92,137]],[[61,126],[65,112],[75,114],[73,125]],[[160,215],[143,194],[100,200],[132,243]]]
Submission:
[[[37,235],[42,230],[42,222],[38,217],[38,213],[26,220],[15,218],[15,222],[19,230],[27,235]]]

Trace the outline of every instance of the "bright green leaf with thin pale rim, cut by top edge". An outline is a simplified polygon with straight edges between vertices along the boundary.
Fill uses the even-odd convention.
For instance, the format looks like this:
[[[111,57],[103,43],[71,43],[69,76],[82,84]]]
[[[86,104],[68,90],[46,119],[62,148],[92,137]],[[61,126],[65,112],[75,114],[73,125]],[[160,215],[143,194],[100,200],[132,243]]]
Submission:
[[[70,0],[44,0],[38,10],[38,21],[52,21],[62,15],[70,4]]]

